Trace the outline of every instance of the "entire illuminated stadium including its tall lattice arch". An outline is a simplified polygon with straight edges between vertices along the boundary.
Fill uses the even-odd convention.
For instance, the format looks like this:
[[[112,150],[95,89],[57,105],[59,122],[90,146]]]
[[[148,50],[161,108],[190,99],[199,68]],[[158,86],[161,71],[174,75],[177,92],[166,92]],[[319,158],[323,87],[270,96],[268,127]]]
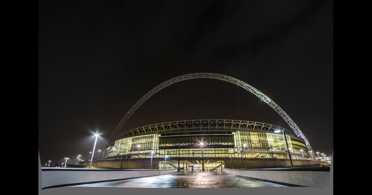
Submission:
[[[272,107],[290,130],[254,121],[205,119],[122,131],[129,117],[156,92],[176,82],[196,78],[219,79],[246,89]],[[278,104],[243,81],[214,73],[181,75],[153,88],[126,113],[103,152],[104,159],[93,159],[92,168],[221,171],[223,168],[321,166],[321,162],[313,160],[314,152],[302,131]]]

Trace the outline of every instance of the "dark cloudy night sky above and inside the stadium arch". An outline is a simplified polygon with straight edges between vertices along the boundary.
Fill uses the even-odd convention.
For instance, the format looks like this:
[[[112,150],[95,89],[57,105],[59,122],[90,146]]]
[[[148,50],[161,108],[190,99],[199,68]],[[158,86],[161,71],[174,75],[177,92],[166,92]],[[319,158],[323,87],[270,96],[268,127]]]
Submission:
[[[104,150],[145,93],[195,72],[257,88],[295,121],[314,152],[332,154],[333,1],[39,1],[42,165],[64,157],[76,163],[78,154],[88,160],[92,133],[102,134],[96,149]],[[290,129],[255,95],[216,79],[164,88],[124,129],[193,119]]]

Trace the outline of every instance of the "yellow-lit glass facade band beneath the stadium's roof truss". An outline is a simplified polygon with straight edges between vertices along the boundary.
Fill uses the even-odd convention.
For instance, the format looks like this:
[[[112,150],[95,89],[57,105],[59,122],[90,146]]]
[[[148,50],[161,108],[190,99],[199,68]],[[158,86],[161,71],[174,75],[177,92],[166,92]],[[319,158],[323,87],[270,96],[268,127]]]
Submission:
[[[289,152],[298,159],[307,159],[307,147],[299,137],[286,135]],[[243,157],[288,159],[283,134],[271,131],[238,130],[231,134],[190,134],[161,136],[146,134],[116,140],[113,147],[106,149],[105,157],[125,156],[125,158],[153,157]],[[137,147],[140,145],[140,147]],[[303,155],[302,155],[302,152]]]

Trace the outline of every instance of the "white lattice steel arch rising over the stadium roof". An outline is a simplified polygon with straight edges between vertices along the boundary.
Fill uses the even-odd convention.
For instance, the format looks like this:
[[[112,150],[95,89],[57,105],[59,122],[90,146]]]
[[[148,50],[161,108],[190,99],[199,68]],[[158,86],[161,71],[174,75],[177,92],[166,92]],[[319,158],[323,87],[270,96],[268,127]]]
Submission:
[[[314,152],[311,149],[310,143],[302,133],[302,131],[299,129],[299,127],[295,124],[295,122],[291,119],[291,117],[288,116],[288,114],[285,113],[285,111],[279,107],[278,104],[276,104],[274,101],[272,101],[269,97],[267,97],[265,94],[257,90],[256,88],[252,87],[251,85],[248,85],[247,83],[240,81],[239,79],[232,78],[226,75],[222,74],[215,74],[215,73],[193,73],[193,74],[186,74],[186,75],[181,75],[178,77],[174,77],[169,79],[168,81],[165,81],[156,87],[154,87],[151,91],[147,92],[140,100],[138,100],[131,109],[125,114],[125,116],[122,118],[122,120],[119,122],[118,126],[116,126],[114,132],[112,133],[109,143],[115,140],[115,138],[118,137],[119,131],[122,129],[126,121],[129,119],[129,117],[132,116],[132,114],[151,96],[153,96],[155,93],[160,91],[161,89],[174,84],[176,82],[180,81],[185,81],[189,79],[197,79],[197,78],[212,78],[212,79],[218,79],[221,81],[227,81],[232,84],[238,85],[245,90],[253,93],[257,97],[259,97],[262,101],[264,101],[266,104],[268,104],[271,108],[273,108],[282,118],[286,123],[288,123],[289,127],[291,127],[292,131],[298,136],[301,137],[302,139],[305,140],[306,146],[309,151],[311,151],[310,155],[314,157]],[[129,130],[130,131],[130,130]]]

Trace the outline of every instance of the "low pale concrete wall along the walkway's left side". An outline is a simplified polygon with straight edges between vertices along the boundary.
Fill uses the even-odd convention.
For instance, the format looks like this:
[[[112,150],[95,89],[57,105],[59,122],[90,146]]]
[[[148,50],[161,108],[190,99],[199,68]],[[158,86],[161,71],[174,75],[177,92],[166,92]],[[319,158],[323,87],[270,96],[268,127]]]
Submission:
[[[165,175],[177,172],[177,169],[84,169],[84,168],[42,168],[42,189],[68,186],[88,182],[105,182],[112,180]]]

